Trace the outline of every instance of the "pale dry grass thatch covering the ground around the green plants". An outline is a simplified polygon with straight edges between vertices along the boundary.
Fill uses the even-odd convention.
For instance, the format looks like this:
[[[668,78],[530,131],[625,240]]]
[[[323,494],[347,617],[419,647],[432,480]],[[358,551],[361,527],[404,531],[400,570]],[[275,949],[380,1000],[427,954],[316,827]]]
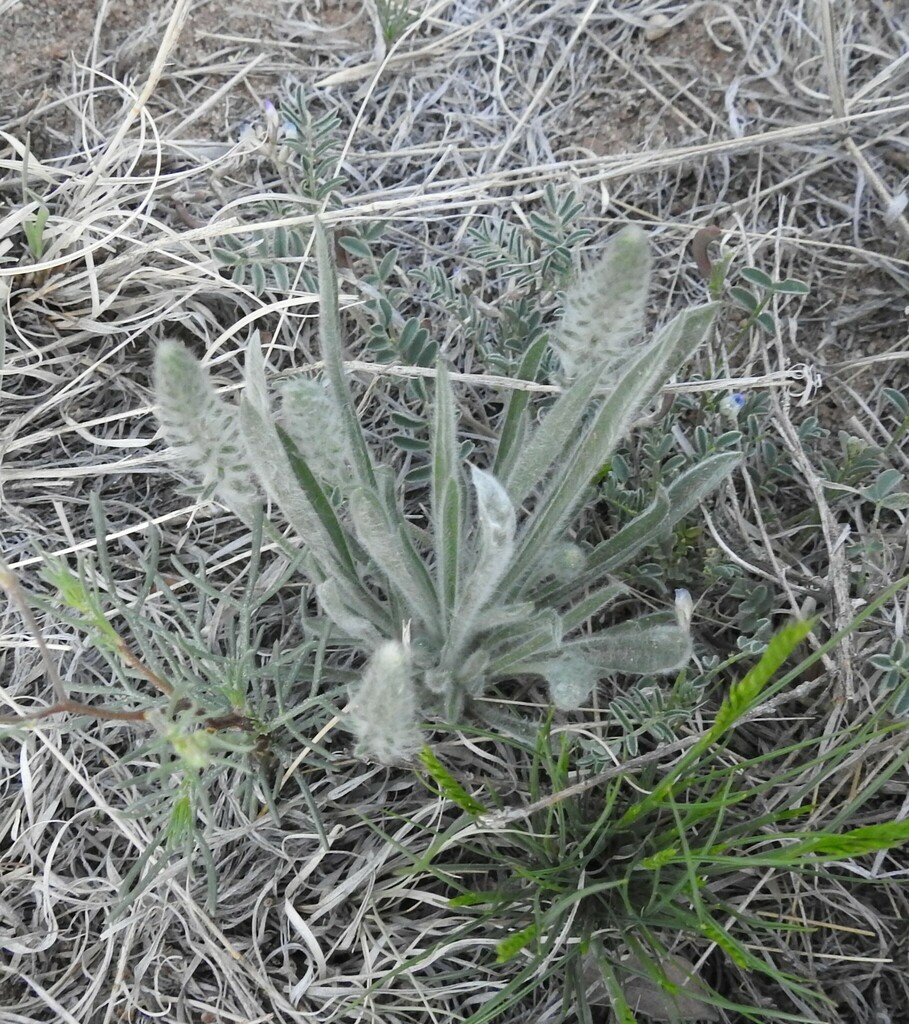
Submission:
[[[471,231],[531,232],[548,185],[573,189],[585,204],[591,233],[578,259],[629,220],[648,226],[655,317],[702,294],[688,246],[710,224],[734,265],[811,286],[807,298],[771,307],[773,334],[733,343],[730,326],[690,379],[668,389],[765,394],[762,443],[786,468],[771,480],[765,462],[724,489],[698,520],[706,523],[698,550],[736,566],[748,590],[766,588],[774,624],[817,613],[818,636],[848,626],[909,571],[905,509],[863,495],[873,473],[831,489],[821,462],[846,458],[845,431],[849,451],[878,453],[876,472],[909,467],[907,423],[888,397],[888,389],[909,392],[909,62],[899,3],[436,0],[413,4],[412,16],[395,0],[233,6],[136,0],[125,12],[102,2],[94,16],[59,5],[56,23],[47,12],[36,23],[24,3],[0,0],[12,26],[0,53],[10,47],[14,73],[0,119],[0,527],[23,590],[46,591],[42,552],[96,550],[93,492],[106,516],[115,609],[142,590],[153,526],[162,565],[173,555],[225,593],[243,585],[249,530],[187,499],[156,437],[154,345],[177,335],[229,394],[253,330],[276,373],[317,364],[317,306],[305,261],[292,261],[289,281],[261,287],[253,272],[231,276],[217,250],[272,229],[305,236],[315,212],[340,236],[384,220],[383,245],[399,250],[391,285],[414,293],[405,314],[431,305],[415,282],[436,267],[494,325],[516,285],[472,255]],[[87,30],[78,48],[53,50],[54,32],[66,39],[71,24]],[[340,205],[317,209],[301,198],[283,163],[263,103],[297,86],[314,116],[338,119],[337,169],[348,181]],[[39,254],[26,232],[42,207]],[[419,410],[398,385],[433,370],[377,367],[362,344],[363,276],[355,260],[342,264],[350,371],[363,417],[391,444],[389,414]],[[552,313],[556,296],[548,301]],[[433,315],[433,337],[457,371],[465,429],[487,443],[503,375],[466,343],[457,316],[440,305]],[[692,424],[678,427],[683,450]],[[284,580],[286,568],[266,545],[265,583]],[[217,648],[228,612],[206,618],[214,598],[165,572],[186,620]],[[735,651],[742,625],[724,594],[707,588],[698,611],[720,656]],[[263,688],[293,682],[279,653],[298,638],[298,610],[292,584],[259,609],[258,650],[274,659]],[[829,748],[845,726],[870,721],[882,693],[870,659],[903,638],[907,612],[904,590],[825,653],[790,699],[749,723],[730,758],[793,750],[770,803],[782,805],[811,779],[799,740],[820,737]],[[185,625],[160,594],[143,613],[157,635]],[[125,629],[127,620],[112,614]],[[42,653],[61,687],[89,701],[112,698],[104,663],[78,631],[43,611],[37,628],[36,636],[14,601],[3,608],[6,714],[54,699]],[[148,692],[147,680],[134,684]],[[510,696],[529,707],[536,695]],[[710,707],[692,713],[689,737],[703,731]],[[514,973],[494,963],[501,933],[483,935],[469,908],[450,908],[431,873],[404,870],[457,809],[413,772],[354,761],[338,710],[314,705],[297,723],[298,740],[277,752],[286,784],[275,787],[274,813],[259,814],[266,801],[256,776],[234,767],[218,775],[205,829],[214,909],[192,848],[165,858],[119,918],[125,880],[162,827],[141,779],[156,765],[140,750],[143,728],[54,717],[10,732],[0,746],[0,1019],[574,1019],[563,1016],[555,955],[515,1008],[482,1016]],[[600,711],[565,729],[595,736]],[[668,765],[690,741],[644,752],[641,763]],[[843,753],[836,777],[806,792],[811,825],[841,825],[838,809],[863,790],[875,795],[851,826],[904,816],[906,768],[897,762],[905,745],[897,731]],[[528,802],[527,766],[514,745],[464,731],[436,749],[468,788],[488,785],[509,806]],[[790,992],[777,1009],[803,1016],[788,1019],[909,1020],[907,870],[896,850],[813,878],[740,880],[737,906],[805,929],[778,933],[774,949],[755,954],[833,1000],[825,1016]],[[730,998],[768,1009],[780,998],[753,974],[718,966],[709,943],[687,948]],[[593,1012],[608,1019],[602,1007]]]

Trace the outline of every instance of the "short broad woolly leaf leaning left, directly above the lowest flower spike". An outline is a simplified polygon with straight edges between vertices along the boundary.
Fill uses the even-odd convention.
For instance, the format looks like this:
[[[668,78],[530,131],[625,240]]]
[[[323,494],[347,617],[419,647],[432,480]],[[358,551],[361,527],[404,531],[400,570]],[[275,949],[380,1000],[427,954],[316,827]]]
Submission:
[[[365,487],[350,496],[350,516],[357,540],[403,600],[409,615],[427,629],[437,630],[435,588],[410,544],[403,520],[392,521],[378,495]]]

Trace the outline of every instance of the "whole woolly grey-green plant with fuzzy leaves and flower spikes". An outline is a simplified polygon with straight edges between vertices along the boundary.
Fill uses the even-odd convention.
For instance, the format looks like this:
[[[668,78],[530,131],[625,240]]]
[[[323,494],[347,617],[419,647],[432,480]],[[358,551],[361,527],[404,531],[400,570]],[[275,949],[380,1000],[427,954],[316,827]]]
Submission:
[[[650,256],[637,227],[620,231],[566,295],[553,347],[567,386],[538,423],[530,396],[511,393],[491,470],[462,465],[448,372],[439,365],[427,529],[410,523],[394,474],[378,461],[345,375],[337,275],[316,229],[324,382],[269,395],[257,338],[239,410],[222,402],[193,356],[158,349],[165,438],[208,493],[249,520],[260,489],[305,546],[305,572],[333,642],[364,650],[349,724],[358,752],[412,755],[427,715],[454,721],[499,680],[546,679],[560,709],[577,708],[610,673],[652,674],[691,654],[690,599],[581,632],[622,593],[610,574],[663,536],[735,467],[708,457],[688,469],[614,537],[591,551],[567,540],[594,476],[662,384],[701,343],[716,304],[679,314],[643,341]],[[519,370],[532,379],[547,339]],[[528,511],[529,509],[529,511]]]

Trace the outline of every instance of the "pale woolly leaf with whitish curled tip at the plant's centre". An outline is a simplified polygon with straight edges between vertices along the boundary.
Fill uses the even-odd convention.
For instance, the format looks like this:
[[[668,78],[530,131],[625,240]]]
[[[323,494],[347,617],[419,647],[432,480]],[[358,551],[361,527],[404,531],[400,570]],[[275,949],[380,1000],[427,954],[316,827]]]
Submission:
[[[445,642],[445,665],[458,667],[467,654],[478,627],[485,626],[486,605],[492,601],[515,547],[517,513],[505,487],[491,473],[471,466],[476,495],[477,531],[470,575],[464,582]]]

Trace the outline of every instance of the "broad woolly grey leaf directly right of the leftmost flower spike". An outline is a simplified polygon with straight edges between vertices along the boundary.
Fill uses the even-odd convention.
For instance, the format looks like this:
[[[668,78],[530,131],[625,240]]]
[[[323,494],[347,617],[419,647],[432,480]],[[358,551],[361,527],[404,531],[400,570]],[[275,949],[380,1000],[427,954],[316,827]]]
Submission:
[[[247,453],[262,486],[309,548],[322,577],[340,572],[356,582],[347,540],[331,504],[324,495],[317,499],[317,507],[310,500],[321,490],[305,463],[301,459],[296,467],[292,464],[274,425],[246,396],[240,404],[240,418]],[[301,479],[308,481],[309,493],[298,482]]]

